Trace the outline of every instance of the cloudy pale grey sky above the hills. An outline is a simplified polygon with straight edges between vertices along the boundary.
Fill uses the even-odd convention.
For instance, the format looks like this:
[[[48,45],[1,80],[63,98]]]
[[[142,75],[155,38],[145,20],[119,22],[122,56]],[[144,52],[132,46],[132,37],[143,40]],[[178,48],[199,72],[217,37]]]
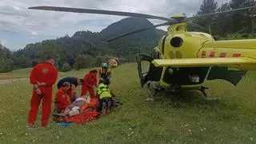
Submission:
[[[218,0],[220,1],[220,0]],[[10,50],[19,50],[31,42],[72,36],[78,30],[99,32],[122,16],[75,14],[29,10],[30,6],[66,6],[99,10],[118,10],[154,14],[170,18],[171,14],[190,16],[199,10],[201,0],[1,0],[0,41]],[[160,20],[150,20],[154,24]],[[166,30],[166,27],[160,27]]]

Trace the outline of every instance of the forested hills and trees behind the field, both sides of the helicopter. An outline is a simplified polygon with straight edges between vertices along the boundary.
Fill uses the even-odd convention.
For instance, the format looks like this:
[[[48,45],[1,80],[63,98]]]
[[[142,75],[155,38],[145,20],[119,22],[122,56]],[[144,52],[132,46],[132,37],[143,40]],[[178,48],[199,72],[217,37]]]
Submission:
[[[246,6],[256,6],[256,2],[254,0],[231,0],[219,5],[214,0],[203,0],[200,10],[195,15]],[[205,30],[195,27],[190,27],[190,30],[211,33],[217,39],[256,38],[254,33],[256,9],[202,17],[193,21],[205,27]],[[99,55],[127,58],[129,61],[134,61],[135,54],[149,53],[158,44],[159,38],[165,34],[165,31],[151,29],[126,38],[119,38],[113,42],[106,42],[106,39],[152,25],[146,19],[124,18],[107,26],[99,33],[82,30],[75,32],[72,36],[66,35],[62,38],[30,43],[14,54],[1,46],[0,72],[34,66],[47,55],[53,55],[58,60],[59,70],[64,71],[72,68],[97,66],[102,62],[102,59],[96,57]]]

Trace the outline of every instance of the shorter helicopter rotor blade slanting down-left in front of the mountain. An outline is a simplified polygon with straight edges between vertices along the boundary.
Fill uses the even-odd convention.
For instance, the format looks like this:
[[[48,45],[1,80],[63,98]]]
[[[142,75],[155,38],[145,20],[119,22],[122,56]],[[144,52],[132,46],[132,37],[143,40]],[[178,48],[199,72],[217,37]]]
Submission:
[[[145,30],[150,30],[150,29],[153,29],[153,28],[158,27],[158,26],[169,26],[169,25],[172,25],[172,24],[175,24],[175,23],[178,23],[178,21],[177,22],[164,22],[164,23],[161,23],[161,24],[158,24],[158,25],[148,26],[148,27],[143,28],[143,29],[130,31],[130,32],[126,33],[126,34],[120,34],[117,37],[107,39],[106,41],[110,42],[110,41],[113,41],[114,39],[126,37],[127,35],[130,35],[130,34],[135,34],[135,33],[139,33],[139,32],[145,31]]]

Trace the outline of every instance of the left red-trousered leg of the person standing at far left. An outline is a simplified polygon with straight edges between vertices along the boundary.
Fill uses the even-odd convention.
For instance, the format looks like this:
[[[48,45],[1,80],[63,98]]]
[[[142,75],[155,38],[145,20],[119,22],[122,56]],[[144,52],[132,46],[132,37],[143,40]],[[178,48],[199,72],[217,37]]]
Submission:
[[[35,119],[38,115],[38,107],[41,102],[41,97],[38,96],[38,94],[33,90],[33,95],[30,100],[30,112],[29,112],[29,118],[28,123],[30,126],[34,126]]]

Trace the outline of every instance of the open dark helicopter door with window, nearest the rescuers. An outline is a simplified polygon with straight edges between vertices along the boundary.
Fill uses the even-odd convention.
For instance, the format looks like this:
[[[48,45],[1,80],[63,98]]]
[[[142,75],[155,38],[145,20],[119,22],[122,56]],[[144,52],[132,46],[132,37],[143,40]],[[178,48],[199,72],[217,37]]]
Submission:
[[[151,62],[154,60],[154,58],[151,58],[150,56],[146,54],[138,54],[136,55],[136,60],[138,63],[138,76],[140,78],[141,86],[143,87],[146,82],[148,81],[159,81],[162,74],[162,67],[155,67]],[[147,68],[147,71],[142,69],[142,62],[146,61],[149,64],[149,67]],[[143,65],[145,65],[146,62],[143,62]]]

